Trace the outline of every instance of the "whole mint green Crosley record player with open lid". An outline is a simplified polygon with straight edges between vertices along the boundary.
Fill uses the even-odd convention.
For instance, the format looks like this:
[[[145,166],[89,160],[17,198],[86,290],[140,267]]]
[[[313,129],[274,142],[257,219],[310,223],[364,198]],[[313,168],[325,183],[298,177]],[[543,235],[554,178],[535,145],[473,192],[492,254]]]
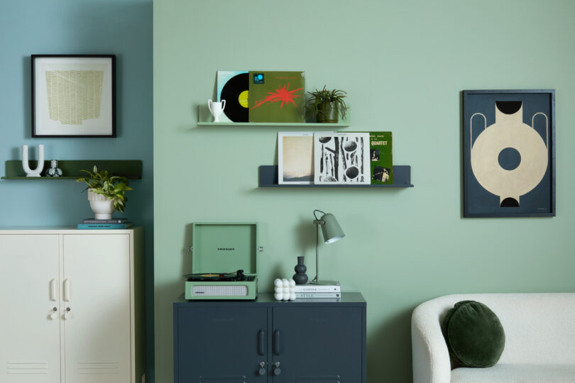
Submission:
[[[256,299],[257,223],[193,223],[185,299]]]

